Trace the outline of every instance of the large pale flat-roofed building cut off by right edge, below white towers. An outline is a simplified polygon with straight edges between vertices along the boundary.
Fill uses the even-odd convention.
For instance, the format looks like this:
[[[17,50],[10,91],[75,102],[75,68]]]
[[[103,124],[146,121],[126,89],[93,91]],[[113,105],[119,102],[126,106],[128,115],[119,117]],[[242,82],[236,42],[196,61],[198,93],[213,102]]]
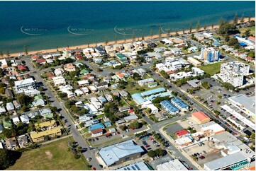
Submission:
[[[255,116],[255,96],[235,95],[230,98],[230,103],[250,116]]]

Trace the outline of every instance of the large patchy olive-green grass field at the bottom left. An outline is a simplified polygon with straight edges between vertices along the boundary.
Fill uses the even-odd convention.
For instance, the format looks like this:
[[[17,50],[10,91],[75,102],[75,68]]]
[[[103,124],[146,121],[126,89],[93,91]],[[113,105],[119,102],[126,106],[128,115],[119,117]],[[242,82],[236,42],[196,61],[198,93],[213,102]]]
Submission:
[[[75,159],[67,151],[69,138],[50,143],[40,148],[23,152],[21,158],[9,170],[89,170],[85,158]],[[84,160],[85,161],[85,160]]]

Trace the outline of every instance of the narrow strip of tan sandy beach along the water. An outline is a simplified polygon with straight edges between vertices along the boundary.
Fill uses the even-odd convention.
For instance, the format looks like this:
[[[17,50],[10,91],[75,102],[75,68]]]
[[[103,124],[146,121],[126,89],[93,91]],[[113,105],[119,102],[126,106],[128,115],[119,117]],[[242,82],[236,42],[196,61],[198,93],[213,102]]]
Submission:
[[[251,18],[251,20],[255,20],[255,18]],[[245,23],[247,21],[248,21],[248,18],[245,18],[243,23]],[[238,20],[238,23],[240,23],[240,20]],[[219,25],[213,25],[213,29],[216,29],[216,28],[219,28]],[[202,30],[204,30],[204,28],[200,28],[199,31],[202,31]],[[206,30],[212,30],[211,26],[208,26],[206,28]],[[191,33],[195,33],[195,32],[196,32],[196,28],[191,30]],[[183,34],[183,31],[178,31],[177,33],[179,35],[184,35],[184,34],[188,34],[189,30],[184,30],[184,34]],[[169,35],[176,35],[176,32],[169,33]],[[159,35],[153,35],[152,37],[145,36],[144,40],[151,40],[151,39],[155,39],[155,38],[158,38],[158,37],[159,37]],[[167,37],[167,34],[162,33],[161,38],[163,38],[163,37]],[[135,37],[135,41],[138,41],[138,40],[140,40],[140,41],[142,40],[141,36],[140,37]],[[113,41],[109,41],[108,45],[123,44],[123,43],[128,43],[128,42],[134,42],[134,41],[133,41],[132,38],[127,39],[126,41],[124,41],[124,40],[117,40],[117,41],[113,40]],[[97,45],[106,46],[106,43],[105,42],[99,42],[99,43],[97,43]],[[69,49],[85,49],[87,47],[88,47],[88,44],[87,45],[70,46]],[[90,43],[89,47],[96,47],[96,45],[95,45],[95,43]],[[59,51],[62,51],[62,49],[65,49],[65,48],[66,47],[58,47]],[[28,51],[28,55],[45,54],[45,53],[52,53],[52,52],[57,52],[57,49],[55,48],[55,49],[41,49],[41,50]],[[9,57],[7,57],[6,54],[4,54],[4,57],[2,57],[2,59],[3,58],[18,57],[18,55],[23,54],[23,53],[24,52],[11,53]]]

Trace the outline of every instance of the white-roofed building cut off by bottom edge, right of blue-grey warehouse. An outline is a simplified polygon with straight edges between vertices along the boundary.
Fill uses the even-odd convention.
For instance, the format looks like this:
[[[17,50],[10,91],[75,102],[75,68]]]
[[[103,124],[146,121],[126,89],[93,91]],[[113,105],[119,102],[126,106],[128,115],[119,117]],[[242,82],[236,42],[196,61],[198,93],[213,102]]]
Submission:
[[[187,170],[187,167],[185,167],[178,159],[174,159],[157,165],[157,170]]]

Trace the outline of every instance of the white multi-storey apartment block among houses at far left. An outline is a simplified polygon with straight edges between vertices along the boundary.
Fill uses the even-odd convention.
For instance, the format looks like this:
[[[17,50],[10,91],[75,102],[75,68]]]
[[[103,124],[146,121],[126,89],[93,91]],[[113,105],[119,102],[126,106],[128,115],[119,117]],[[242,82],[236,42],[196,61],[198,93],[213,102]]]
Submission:
[[[24,93],[26,90],[33,90],[34,88],[35,81],[33,81],[33,78],[14,82],[14,90],[16,90],[16,93]]]

